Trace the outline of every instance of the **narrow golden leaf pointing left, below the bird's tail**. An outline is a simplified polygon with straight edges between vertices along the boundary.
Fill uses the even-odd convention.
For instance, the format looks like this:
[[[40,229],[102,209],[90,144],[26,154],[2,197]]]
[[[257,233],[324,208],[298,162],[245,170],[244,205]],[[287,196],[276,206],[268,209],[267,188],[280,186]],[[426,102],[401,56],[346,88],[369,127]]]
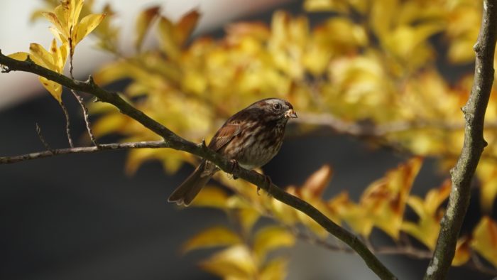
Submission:
[[[186,253],[196,249],[229,246],[239,243],[241,243],[240,237],[232,230],[222,226],[209,227],[207,230],[202,230],[202,232],[188,239],[182,245],[181,251]]]

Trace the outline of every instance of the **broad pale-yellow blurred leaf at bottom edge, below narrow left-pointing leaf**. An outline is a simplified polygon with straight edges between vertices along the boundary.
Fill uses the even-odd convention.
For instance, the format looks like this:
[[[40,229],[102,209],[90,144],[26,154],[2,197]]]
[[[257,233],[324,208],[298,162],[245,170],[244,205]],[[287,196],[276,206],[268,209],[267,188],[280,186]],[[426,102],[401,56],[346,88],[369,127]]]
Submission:
[[[228,279],[253,279],[256,263],[244,245],[234,245],[200,263],[202,269]]]

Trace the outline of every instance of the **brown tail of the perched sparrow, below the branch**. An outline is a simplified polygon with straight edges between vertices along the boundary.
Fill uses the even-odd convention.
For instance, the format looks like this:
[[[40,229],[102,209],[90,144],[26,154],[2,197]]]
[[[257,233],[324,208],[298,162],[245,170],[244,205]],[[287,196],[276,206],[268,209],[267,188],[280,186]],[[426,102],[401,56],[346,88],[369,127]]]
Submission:
[[[203,174],[205,161],[202,161],[199,166],[193,171],[188,178],[178,187],[168,198],[169,202],[175,202],[178,205],[188,206],[192,200],[202,190],[205,184],[214,174]]]

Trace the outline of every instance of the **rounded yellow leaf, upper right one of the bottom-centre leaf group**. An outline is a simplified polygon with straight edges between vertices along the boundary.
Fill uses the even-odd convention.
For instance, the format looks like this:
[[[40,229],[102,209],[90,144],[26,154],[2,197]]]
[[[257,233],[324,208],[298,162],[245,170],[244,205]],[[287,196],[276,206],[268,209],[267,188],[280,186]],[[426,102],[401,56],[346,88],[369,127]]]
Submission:
[[[281,247],[292,247],[295,236],[283,227],[268,226],[258,230],[253,242],[253,251],[259,262],[263,262],[269,252]]]

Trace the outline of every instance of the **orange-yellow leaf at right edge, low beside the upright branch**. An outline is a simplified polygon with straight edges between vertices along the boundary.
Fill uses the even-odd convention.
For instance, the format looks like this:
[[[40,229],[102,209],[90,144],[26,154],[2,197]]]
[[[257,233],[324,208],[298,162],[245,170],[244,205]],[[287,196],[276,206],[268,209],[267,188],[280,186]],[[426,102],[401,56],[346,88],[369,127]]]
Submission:
[[[483,217],[473,231],[471,247],[497,266],[497,222],[488,216]]]

